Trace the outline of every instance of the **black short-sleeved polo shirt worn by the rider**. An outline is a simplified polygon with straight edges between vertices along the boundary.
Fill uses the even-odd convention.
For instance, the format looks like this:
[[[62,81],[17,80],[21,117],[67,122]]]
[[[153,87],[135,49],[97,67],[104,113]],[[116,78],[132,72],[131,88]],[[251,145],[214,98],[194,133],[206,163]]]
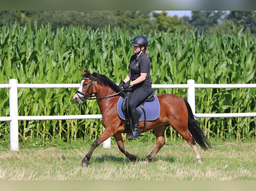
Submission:
[[[144,52],[140,54],[139,58],[137,58],[136,54],[131,56],[130,71],[132,81],[137,79],[140,76],[140,73],[147,73],[145,81],[137,84],[136,86],[142,86],[145,84],[151,87],[152,81],[150,78],[150,61]]]

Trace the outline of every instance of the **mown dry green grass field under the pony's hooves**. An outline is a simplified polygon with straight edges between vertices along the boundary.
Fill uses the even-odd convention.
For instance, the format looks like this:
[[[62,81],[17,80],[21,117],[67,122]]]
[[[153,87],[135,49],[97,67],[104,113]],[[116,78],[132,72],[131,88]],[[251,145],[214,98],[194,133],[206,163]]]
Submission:
[[[79,144],[78,144],[79,145]],[[154,145],[128,142],[126,149],[138,155],[131,163],[115,146],[100,145],[87,167],[79,164],[90,145],[74,148],[21,148],[0,150],[0,180],[256,180],[256,142],[213,143],[200,150],[196,163],[187,143],[166,144],[151,163],[145,163]]]

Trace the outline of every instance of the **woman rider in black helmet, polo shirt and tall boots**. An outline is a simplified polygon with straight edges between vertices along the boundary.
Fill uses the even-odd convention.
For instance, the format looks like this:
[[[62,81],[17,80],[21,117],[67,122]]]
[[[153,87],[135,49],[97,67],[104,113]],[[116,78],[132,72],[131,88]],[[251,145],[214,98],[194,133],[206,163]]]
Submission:
[[[151,93],[152,81],[150,78],[150,61],[148,58],[148,39],[143,35],[138,35],[132,39],[134,55],[130,58],[130,71],[126,78],[121,81],[119,87],[124,90],[133,90],[133,94],[128,103],[128,111],[132,121],[133,133],[126,138],[134,140],[140,138],[139,118],[136,107],[143,103]],[[131,80],[131,82],[129,82]]]

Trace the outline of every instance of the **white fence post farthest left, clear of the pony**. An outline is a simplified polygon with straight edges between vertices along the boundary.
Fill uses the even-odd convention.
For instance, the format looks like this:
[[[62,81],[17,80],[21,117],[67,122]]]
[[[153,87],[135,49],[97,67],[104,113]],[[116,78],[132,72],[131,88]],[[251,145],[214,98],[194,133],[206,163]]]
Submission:
[[[17,80],[10,79],[9,84],[12,87],[9,89],[9,106],[10,106],[10,150],[19,150],[19,134],[18,134],[18,91]]]

